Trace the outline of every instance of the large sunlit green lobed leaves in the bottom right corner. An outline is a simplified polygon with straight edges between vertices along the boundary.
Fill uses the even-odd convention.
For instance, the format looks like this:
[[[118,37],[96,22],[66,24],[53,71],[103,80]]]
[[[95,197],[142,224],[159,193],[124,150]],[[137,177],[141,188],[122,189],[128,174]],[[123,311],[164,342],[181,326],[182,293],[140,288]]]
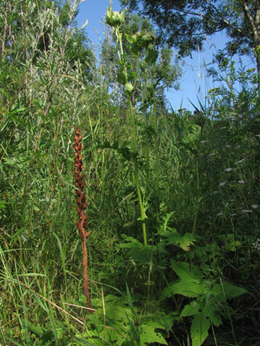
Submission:
[[[227,300],[238,297],[246,290],[212,275],[207,266],[200,268],[187,262],[171,260],[171,268],[179,279],[162,291],[162,298],[173,295],[193,298],[183,307],[180,318],[192,318],[192,345],[200,346],[209,335],[209,329],[214,332],[214,326],[219,327],[223,318],[231,317],[232,309]]]

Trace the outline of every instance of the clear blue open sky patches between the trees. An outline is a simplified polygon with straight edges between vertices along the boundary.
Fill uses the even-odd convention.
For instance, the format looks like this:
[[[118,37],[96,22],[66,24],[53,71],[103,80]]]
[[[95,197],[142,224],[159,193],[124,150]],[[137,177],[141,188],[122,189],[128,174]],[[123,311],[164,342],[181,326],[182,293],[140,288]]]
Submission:
[[[80,4],[79,14],[77,17],[78,26],[85,23],[86,19],[88,24],[85,28],[89,39],[93,44],[97,45],[99,42],[98,35],[103,38],[103,26],[101,19],[105,17],[107,7],[110,6],[109,0],[87,0]],[[114,0],[112,4],[113,10],[121,10],[120,1]],[[98,32],[98,35],[96,33]],[[213,55],[220,48],[225,46],[227,37],[224,33],[218,33],[214,37],[207,37],[204,50],[200,52],[193,52],[192,59],[186,58],[182,70],[184,75],[180,80],[180,91],[170,90],[166,93],[168,102],[171,103],[173,109],[177,110],[181,106],[193,110],[193,106],[189,102],[193,102],[196,107],[199,107],[199,100],[205,104],[205,95],[207,90],[218,86],[216,82],[212,82],[205,75],[204,64],[210,64]],[[236,62],[239,62],[239,57],[234,57]],[[248,69],[254,67],[254,64],[249,57],[243,58],[243,63]]]

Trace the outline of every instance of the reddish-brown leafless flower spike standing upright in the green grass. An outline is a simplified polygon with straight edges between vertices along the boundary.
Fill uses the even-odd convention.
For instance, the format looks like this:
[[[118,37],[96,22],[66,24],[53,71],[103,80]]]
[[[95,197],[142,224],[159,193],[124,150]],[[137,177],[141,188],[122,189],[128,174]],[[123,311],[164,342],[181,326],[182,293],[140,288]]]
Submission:
[[[75,176],[75,185],[76,185],[76,198],[77,198],[77,211],[78,211],[78,221],[77,226],[80,232],[81,244],[83,247],[83,280],[84,280],[84,289],[85,295],[87,298],[87,306],[89,307],[89,313],[92,313],[92,303],[89,295],[89,278],[87,275],[87,246],[86,239],[91,234],[91,231],[87,232],[87,214],[85,212],[87,208],[87,201],[83,188],[85,185],[84,173],[83,173],[83,154],[82,154],[82,138],[83,135],[80,134],[80,129],[76,129],[75,134],[75,167],[74,167],[74,176]]]

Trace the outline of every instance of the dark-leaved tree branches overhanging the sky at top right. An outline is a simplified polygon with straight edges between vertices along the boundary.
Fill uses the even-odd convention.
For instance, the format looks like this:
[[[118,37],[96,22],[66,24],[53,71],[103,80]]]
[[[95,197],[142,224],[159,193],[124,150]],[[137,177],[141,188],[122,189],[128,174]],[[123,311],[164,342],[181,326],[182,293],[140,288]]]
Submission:
[[[260,93],[260,0],[121,0],[153,19],[162,42],[181,56],[201,46],[206,35],[225,30],[230,55],[254,52]]]

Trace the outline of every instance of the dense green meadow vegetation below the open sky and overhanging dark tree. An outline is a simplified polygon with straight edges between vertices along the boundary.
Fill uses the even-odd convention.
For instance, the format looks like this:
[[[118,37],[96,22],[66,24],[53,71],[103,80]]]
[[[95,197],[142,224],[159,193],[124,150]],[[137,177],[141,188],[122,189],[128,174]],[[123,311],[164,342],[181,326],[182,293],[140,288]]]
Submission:
[[[259,346],[257,66],[174,110],[148,17],[97,49],[80,2],[0,3],[0,345]]]

